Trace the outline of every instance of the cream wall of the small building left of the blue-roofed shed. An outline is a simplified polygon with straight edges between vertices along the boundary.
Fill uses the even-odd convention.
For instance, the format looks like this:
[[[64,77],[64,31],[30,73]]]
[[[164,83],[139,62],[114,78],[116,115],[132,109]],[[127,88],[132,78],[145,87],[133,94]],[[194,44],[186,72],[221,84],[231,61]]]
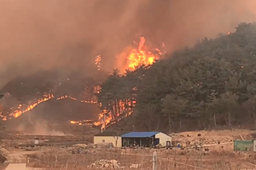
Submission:
[[[122,147],[122,138],[120,136],[94,136],[93,138],[93,144],[99,144],[99,143],[112,143],[113,146],[115,146],[117,138],[117,146],[116,147]]]

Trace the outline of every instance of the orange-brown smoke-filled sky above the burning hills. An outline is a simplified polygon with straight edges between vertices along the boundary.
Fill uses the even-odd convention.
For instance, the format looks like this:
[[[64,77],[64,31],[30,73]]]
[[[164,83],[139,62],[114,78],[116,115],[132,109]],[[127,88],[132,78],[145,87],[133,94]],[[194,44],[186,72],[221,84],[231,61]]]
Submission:
[[[1,0],[0,88],[40,70],[109,70],[137,37],[166,51],[256,20],[254,0]]]

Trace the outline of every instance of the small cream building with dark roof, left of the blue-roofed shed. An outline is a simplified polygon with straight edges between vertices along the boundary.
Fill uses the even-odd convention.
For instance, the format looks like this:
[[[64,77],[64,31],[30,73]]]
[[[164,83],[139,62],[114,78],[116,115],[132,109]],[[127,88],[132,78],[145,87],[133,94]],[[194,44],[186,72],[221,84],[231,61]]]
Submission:
[[[121,135],[128,133],[124,131],[120,132],[103,132],[98,133],[94,135],[93,137],[93,143],[99,144],[99,143],[112,143],[115,147],[121,147],[122,146],[122,138]]]

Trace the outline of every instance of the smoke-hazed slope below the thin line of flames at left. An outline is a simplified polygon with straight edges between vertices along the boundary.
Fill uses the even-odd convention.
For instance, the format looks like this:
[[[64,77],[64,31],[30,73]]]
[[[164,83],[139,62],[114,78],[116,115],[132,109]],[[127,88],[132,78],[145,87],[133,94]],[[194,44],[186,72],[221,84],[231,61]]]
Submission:
[[[8,102],[11,99],[5,100]],[[3,105],[10,105],[7,102],[3,103]],[[67,134],[72,131],[67,127],[70,125],[70,120],[79,121],[87,119],[96,121],[99,113],[101,111],[98,105],[82,104],[72,99],[50,99],[18,118],[1,122],[1,125],[5,127],[5,130],[12,132],[17,131],[19,133],[37,135],[63,135],[63,133]]]

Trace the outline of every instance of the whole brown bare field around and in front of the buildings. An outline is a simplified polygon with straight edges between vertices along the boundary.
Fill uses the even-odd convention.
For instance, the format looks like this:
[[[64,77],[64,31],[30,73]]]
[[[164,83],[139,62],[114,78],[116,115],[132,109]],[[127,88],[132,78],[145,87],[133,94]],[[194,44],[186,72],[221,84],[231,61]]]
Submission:
[[[62,143],[32,146],[31,139],[2,140],[0,153],[7,158],[3,163],[26,162],[26,167],[45,169],[152,169],[152,155],[157,153],[159,169],[256,169],[256,153],[233,151],[234,139],[253,139],[256,131],[219,130],[172,134],[173,144],[182,143],[184,150],[118,149],[106,144],[90,144],[91,136],[62,138]],[[47,140],[47,136],[44,137]],[[51,137],[53,138],[53,137]],[[59,139],[58,139],[59,138]],[[50,141],[60,141],[55,137]],[[24,144],[24,142],[26,144]],[[201,144],[195,150],[195,144]],[[205,150],[207,148],[207,150]],[[4,166],[3,166],[4,167]]]

